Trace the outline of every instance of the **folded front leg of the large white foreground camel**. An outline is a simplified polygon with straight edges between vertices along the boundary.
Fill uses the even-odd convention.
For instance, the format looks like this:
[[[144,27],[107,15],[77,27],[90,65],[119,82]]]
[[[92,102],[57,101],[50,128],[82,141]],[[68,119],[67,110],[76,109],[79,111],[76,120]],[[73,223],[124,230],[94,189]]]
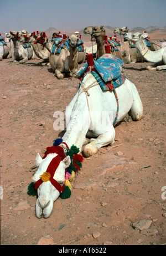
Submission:
[[[115,129],[112,124],[110,124],[109,131],[101,134],[97,139],[91,139],[91,142],[84,147],[83,155],[89,157],[95,155],[95,153],[101,148],[109,144],[114,144],[115,142]]]

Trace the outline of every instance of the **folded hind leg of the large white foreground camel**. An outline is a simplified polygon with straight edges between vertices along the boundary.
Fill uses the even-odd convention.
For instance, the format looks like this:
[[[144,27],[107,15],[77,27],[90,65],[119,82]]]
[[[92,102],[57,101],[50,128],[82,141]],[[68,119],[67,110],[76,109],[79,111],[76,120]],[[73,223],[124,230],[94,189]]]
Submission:
[[[128,114],[132,117],[133,121],[138,121],[143,116],[143,106],[142,106],[142,101],[139,97],[137,88],[134,84],[132,86],[132,93],[133,93],[133,104]]]

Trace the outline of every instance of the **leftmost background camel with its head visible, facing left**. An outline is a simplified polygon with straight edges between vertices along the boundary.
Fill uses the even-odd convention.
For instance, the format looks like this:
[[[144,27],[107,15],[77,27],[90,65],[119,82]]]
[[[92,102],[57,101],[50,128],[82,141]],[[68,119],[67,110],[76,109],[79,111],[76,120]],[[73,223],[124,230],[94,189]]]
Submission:
[[[24,48],[23,44],[19,41],[19,32],[8,32],[6,37],[12,39],[14,47],[14,63],[19,61],[20,64],[27,62],[29,59],[34,58],[32,47]]]

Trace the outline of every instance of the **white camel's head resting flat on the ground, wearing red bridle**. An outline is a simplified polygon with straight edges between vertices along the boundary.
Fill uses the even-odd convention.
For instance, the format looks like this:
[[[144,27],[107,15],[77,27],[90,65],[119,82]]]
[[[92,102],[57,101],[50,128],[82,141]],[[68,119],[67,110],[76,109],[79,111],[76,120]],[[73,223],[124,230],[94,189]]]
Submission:
[[[63,160],[57,153],[49,153],[42,159],[39,153],[35,159],[38,166],[32,180],[37,189],[38,199],[35,206],[38,218],[48,218],[53,210],[54,201],[60,196],[65,183],[65,169],[69,167],[70,156]]]

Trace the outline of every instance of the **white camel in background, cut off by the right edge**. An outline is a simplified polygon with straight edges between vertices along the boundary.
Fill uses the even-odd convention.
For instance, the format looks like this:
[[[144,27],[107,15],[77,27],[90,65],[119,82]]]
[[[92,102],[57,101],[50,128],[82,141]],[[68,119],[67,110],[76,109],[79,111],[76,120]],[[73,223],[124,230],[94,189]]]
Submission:
[[[124,38],[130,40],[136,44],[139,53],[147,62],[155,63],[152,66],[147,66],[148,70],[163,70],[166,69],[166,47],[163,47],[155,52],[152,52],[144,42],[144,38],[147,37],[147,33],[127,33]]]

